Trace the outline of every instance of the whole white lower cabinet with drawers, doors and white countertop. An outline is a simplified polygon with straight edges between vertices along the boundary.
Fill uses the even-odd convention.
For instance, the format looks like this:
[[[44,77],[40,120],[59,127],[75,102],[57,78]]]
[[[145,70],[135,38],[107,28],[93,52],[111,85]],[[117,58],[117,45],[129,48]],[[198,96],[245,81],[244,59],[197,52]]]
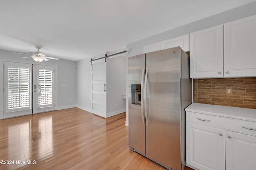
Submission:
[[[256,169],[256,109],[192,103],[185,110],[187,166]]]

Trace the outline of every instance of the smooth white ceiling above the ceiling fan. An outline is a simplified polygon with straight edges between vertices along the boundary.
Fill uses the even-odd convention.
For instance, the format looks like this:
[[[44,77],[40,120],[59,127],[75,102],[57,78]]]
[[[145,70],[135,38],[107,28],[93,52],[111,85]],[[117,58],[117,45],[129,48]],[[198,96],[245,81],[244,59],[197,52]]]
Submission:
[[[0,49],[78,61],[255,0],[0,0]]]

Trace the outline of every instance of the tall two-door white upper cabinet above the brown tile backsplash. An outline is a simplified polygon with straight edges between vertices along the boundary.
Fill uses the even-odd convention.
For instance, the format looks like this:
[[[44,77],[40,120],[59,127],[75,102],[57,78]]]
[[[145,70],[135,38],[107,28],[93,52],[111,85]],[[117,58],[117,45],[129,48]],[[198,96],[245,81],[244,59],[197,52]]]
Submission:
[[[190,34],[190,78],[255,77],[256,15]]]

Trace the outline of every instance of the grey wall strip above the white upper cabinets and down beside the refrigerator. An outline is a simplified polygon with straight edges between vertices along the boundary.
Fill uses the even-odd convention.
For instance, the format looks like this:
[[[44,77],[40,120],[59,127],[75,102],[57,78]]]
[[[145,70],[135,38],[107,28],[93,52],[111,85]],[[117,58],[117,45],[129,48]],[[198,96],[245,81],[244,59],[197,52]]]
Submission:
[[[212,26],[217,26],[220,24],[224,24],[226,22],[231,22],[234,20],[238,20],[241,18],[245,18],[247,16],[252,16],[256,14],[256,2],[252,2],[250,4],[246,4],[244,6],[240,6],[238,8],[234,8],[232,10],[228,10],[226,12],[222,12],[220,14],[210,16],[208,18],[204,18],[202,20],[192,22],[190,24],[186,24],[184,26],[175,28],[173,30],[169,30],[155,36],[145,38],[143,40],[127,44],[126,47],[129,50],[127,57],[132,57],[134,55],[142,54],[144,45],[149,45],[156,42],[161,42],[164,40],[168,40],[170,38],[175,38],[178,36],[182,36],[185,34],[189,34],[198,30],[203,30],[205,28],[209,28]],[[193,11],[191,11],[193,12]],[[168,21],[166,21],[168,22]],[[128,61],[128,59],[127,59]],[[127,62],[128,63],[128,62]],[[126,64],[126,76],[128,77],[128,64]],[[126,81],[128,83],[128,81]],[[128,84],[126,84],[126,125],[128,125]]]

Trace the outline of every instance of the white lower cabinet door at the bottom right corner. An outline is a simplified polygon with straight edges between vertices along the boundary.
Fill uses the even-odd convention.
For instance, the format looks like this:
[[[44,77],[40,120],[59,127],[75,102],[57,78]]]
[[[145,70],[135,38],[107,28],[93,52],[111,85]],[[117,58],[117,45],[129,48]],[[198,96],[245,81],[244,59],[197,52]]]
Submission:
[[[255,169],[256,136],[226,130],[226,170]]]

